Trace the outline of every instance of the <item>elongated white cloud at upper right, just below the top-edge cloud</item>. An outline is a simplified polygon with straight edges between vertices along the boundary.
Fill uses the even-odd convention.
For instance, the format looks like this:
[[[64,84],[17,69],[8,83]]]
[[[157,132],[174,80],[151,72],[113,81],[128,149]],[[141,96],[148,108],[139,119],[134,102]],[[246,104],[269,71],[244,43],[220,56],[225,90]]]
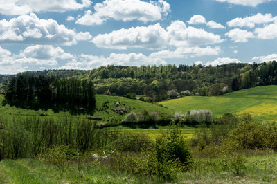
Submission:
[[[274,17],[272,17],[270,13],[267,13],[265,15],[262,15],[261,13],[257,13],[256,15],[253,15],[250,17],[248,16],[244,18],[237,17],[227,22],[227,25],[229,27],[254,28],[256,24],[266,24],[271,21],[274,21]]]

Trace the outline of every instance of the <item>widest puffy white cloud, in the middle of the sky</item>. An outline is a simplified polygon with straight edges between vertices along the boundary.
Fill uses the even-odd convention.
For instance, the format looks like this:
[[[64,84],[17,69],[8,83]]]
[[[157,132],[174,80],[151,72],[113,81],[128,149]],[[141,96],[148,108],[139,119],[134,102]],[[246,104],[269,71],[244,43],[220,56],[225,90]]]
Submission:
[[[208,33],[204,29],[186,27],[182,21],[173,21],[166,29],[160,24],[115,30],[97,35],[92,42],[98,47],[127,49],[164,49],[170,46],[192,47],[223,42],[220,35]]]

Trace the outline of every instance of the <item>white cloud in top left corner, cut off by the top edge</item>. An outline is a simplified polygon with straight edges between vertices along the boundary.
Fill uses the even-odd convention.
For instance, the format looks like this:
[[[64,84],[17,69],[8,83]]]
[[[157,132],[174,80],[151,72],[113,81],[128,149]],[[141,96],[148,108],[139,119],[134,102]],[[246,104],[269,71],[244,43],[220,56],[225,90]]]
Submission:
[[[24,15],[30,12],[65,12],[89,7],[90,0],[1,0],[0,13],[3,15]]]

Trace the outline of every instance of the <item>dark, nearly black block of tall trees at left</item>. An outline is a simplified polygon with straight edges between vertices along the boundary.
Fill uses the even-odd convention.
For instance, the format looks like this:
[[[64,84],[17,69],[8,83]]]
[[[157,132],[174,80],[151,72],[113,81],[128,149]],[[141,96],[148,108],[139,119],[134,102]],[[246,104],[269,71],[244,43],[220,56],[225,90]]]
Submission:
[[[6,86],[6,102],[30,109],[93,113],[96,106],[91,80],[57,77],[14,77]]]

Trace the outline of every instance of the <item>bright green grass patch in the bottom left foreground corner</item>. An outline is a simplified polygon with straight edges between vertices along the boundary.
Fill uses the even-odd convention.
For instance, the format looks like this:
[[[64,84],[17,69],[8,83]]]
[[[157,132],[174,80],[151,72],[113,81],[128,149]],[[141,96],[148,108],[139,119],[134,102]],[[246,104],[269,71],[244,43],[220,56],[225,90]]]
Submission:
[[[70,165],[59,169],[33,159],[2,160],[0,176],[5,174],[1,183],[140,183],[140,180],[151,181],[146,176],[137,178],[129,174],[110,171],[108,167]]]

